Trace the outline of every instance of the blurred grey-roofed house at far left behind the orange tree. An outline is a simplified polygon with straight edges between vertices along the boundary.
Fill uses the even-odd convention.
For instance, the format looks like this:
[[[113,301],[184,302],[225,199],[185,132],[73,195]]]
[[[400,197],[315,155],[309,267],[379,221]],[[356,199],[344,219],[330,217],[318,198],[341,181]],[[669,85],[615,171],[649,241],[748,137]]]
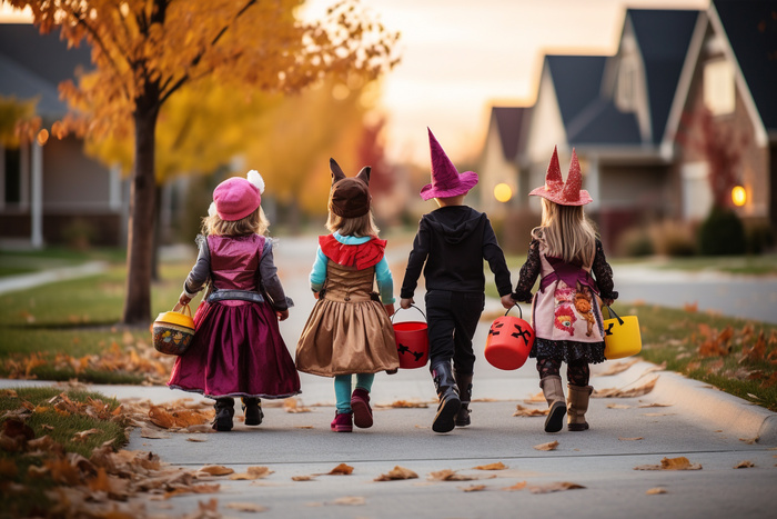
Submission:
[[[33,100],[43,129],[68,109],[58,84],[88,67],[87,46],[68,49],[58,33],[0,24],[0,99]],[[0,144],[0,243],[40,248],[85,238],[123,244],[125,193],[120,171],[87,157],[77,137],[43,132],[19,147]]]

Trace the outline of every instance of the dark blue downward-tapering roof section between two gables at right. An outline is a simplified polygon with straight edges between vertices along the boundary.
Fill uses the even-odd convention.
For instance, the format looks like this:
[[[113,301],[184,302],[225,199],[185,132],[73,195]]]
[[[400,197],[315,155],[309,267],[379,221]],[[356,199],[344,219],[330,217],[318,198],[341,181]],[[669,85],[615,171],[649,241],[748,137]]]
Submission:
[[[658,144],[664,138],[666,121],[699,13],[700,11],[665,9],[626,11],[626,19],[634,28],[645,63],[654,144]]]

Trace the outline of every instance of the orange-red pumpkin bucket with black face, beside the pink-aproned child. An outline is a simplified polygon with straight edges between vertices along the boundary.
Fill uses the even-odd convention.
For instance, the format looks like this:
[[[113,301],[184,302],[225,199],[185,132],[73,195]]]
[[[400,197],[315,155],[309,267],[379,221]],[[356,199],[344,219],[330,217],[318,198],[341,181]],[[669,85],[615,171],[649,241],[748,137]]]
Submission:
[[[516,307],[518,307],[516,305]],[[512,310],[512,309],[511,309]],[[486,339],[485,358],[491,366],[512,370],[521,368],[534,345],[534,330],[521,318],[508,316],[509,310],[491,325]]]

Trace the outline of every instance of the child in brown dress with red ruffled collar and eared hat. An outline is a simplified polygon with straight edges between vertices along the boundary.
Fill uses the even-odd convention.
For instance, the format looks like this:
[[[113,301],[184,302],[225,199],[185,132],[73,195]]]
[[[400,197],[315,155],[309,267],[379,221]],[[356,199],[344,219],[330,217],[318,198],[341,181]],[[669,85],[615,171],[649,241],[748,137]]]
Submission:
[[[394,329],[394,281],[384,257],[385,240],[370,211],[369,167],[346,178],[330,159],[332,189],[326,228],[319,237],[310,276],[317,299],[296,345],[296,369],[334,377],[336,411],[331,429],[372,427],[370,390],[379,371],[400,367]],[[373,291],[377,280],[379,295]],[[381,306],[381,302],[383,303]],[[356,388],[351,393],[352,375]]]

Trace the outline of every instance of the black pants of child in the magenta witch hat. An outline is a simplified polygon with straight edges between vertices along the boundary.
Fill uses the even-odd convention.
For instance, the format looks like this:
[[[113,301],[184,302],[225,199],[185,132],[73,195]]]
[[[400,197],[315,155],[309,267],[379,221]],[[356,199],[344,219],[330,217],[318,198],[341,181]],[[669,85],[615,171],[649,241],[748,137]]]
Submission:
[[[472,375],[475,368],[472,338],[485,307],[485,295],[430,290],[425,300],[430,369],[436,362],[453,359],[456,371]]]

